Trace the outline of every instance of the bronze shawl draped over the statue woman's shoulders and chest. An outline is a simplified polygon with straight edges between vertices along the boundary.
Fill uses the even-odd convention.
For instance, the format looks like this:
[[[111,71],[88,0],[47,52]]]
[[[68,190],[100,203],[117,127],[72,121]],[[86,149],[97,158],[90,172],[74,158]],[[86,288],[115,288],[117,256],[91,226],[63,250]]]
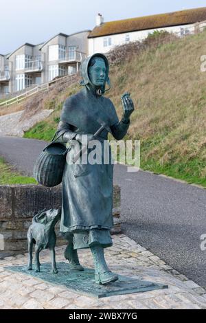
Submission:
[[[95,133],[100,128],[101,121],[106,122],[108,126],[113,126],[119,122],[119,119],[110,99],[103,96],[97,97],[91,90],[84,87],[75,95],[67,98],[62,108],[60,121],[75,127],[78,133]]]

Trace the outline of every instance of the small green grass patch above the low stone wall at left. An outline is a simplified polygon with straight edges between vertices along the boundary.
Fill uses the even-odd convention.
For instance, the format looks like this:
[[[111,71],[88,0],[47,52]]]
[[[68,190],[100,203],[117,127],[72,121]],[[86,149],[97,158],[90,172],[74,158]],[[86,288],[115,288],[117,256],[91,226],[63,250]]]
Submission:
[[[12,185],[12,184],[36,184],[36,181],[32,177],[26,177],[19,172],[12,170],[5,160],[0,157],[0,184]]]

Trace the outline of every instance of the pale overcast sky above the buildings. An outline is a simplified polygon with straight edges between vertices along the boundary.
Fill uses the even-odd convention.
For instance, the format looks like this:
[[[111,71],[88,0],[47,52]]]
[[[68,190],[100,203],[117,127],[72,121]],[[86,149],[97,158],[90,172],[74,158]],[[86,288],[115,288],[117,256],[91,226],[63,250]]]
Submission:
[[[92,30],[98,12],[113,21],[204,6],[203,0],[0,0],[0,54],[59,32]]]

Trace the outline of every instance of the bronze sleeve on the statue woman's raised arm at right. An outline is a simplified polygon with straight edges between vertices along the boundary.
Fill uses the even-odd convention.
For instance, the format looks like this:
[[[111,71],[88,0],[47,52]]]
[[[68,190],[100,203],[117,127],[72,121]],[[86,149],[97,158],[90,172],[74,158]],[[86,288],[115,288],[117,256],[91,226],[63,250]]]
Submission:
[[[110,101],[111,102],[111,101]],[[111,102],[111,131],[116,140],[122,140],[130,126],[130,120],[126,122],[124,117],[119,121],[114,104]]]

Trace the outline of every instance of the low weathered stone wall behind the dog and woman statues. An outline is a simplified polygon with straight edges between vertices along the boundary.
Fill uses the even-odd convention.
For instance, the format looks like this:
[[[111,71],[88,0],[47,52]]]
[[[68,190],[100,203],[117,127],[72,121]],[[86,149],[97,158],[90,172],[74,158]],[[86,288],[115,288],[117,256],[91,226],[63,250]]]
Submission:
[[[27,229],[32,217],[39,210],[60,208],[61,186],[44,188],[36,185],[0,186],[0,258],[27,251]],[[113,189],[113,216],[115,227],[112,233],[120,233],[120,188]],[[57,244],[65,243],[58,234]]]

